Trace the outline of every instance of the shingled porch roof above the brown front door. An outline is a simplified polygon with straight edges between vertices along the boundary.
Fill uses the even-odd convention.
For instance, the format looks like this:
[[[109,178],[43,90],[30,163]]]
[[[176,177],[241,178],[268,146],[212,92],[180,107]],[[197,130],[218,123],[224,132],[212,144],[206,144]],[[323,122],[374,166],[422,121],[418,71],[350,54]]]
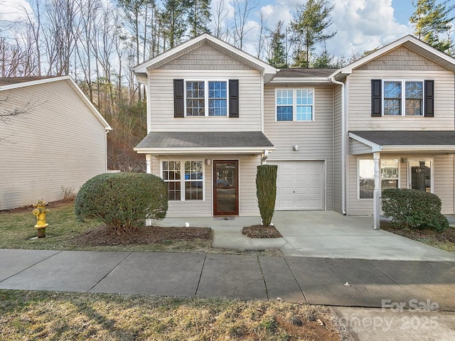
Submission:
[[[248,148],[273,147],[260,131],[156,131],[136,148]]]

